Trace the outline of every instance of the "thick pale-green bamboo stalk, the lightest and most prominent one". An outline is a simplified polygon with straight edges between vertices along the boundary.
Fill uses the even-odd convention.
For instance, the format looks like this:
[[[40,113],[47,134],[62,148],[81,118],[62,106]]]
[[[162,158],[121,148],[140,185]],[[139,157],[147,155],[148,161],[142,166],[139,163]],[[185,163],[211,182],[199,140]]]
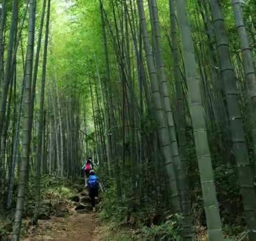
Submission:
[[[210,240],[220,241],[223,240],[221,220],[212,170],[211,152],[207,139],[205,115],[200,91],[200,78],[197,73],[198,67],[195,59],[194,44],[191,37],[185,0],[176,0],[176,4],[177,18],[181,33],[183,61],[185,64],[185,74],[188,86],[189,111],[194,130],[208,234]]]

